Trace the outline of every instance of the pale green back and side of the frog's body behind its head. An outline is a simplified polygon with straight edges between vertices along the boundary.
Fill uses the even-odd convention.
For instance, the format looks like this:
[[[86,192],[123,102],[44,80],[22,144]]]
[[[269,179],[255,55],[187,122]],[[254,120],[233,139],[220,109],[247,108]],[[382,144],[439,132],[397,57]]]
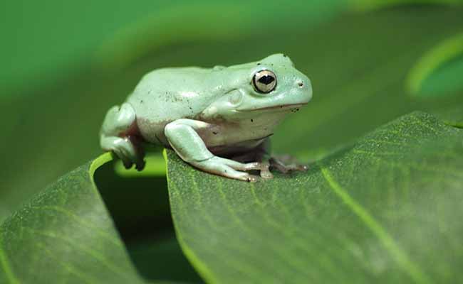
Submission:
[[[165,143],[165,125],[203,111],[214,99],[205,85],[210,73],[210,69],[200,67],[147,73],[127,99],[135,109],[142,136],[153,143]]]

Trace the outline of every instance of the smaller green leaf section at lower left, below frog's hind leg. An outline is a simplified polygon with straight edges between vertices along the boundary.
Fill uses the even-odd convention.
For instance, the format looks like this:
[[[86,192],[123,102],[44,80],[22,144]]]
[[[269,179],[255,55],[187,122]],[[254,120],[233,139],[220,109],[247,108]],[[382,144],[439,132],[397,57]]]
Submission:
[[[93,182],[110,159],[64,175],[0,225],[0,283],[143,283]]]

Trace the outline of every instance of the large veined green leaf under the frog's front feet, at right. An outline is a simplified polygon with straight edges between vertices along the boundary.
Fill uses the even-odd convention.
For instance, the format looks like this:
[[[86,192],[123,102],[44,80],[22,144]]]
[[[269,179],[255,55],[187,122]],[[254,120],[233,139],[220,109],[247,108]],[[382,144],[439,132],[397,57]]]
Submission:
[[[209,283],[456,283],[463,130],[415,112],[306,173],[239,182],[167,151],[172,216]]]

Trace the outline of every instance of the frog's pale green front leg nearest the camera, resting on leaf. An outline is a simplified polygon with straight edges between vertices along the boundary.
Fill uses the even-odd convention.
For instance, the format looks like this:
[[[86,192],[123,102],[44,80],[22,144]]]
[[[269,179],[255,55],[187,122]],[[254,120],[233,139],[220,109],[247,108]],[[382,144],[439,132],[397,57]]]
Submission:
[[[165,136],[177,155],[200,170],[236,180],[255,181],[256,177],[245,170],[260,170],[260,163],[239,163],[212,154],[197,133],[210,127],[203,121],[177,119],[165,126]]]

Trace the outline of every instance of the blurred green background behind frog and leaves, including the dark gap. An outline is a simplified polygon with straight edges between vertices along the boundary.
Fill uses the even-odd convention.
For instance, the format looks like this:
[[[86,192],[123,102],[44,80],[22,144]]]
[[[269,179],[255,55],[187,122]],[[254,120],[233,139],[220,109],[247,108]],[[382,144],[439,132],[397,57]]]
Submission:
[[[101,153],[105,111],[158,67],[288,54],[311,78],[313,102],[283,122],[274,148],[305,160],[417,109],[461,125],[460,3],[4,1],[0,222]],[[135,182],[110,167],[96,178],[134,251],[162,228],[173,240],[164,178]]]

